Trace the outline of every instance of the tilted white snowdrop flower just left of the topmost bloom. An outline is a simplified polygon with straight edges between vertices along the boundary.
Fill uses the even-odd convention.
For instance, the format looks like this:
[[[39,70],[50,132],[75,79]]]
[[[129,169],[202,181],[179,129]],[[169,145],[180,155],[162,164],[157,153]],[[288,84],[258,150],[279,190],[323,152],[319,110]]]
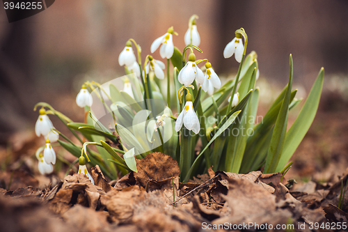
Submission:
[[[172,26],[168,29],[167,33],[165,33],[163,36],[157,38],[154,42],[152,42],[150,48],[151,53],[154,53],[157,50],[157,48],[159,48],[159,45],[162,45],[159,49],[159,54],[161,55],[161,58],[171,59],[174,53],[173,33],[175,32]]]

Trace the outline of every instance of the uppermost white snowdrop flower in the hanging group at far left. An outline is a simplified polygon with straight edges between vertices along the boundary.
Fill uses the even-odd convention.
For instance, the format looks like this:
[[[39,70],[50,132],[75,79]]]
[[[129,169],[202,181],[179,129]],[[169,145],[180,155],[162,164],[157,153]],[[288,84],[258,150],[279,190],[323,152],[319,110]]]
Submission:
[[[38,137],[40,137],[41,134],[44,137],[49,136],[52,141],[57,141],[59,136],[55,132],[52,132],[52,128],[54,129],[54,126],[52,121],[47,116],[45,109],[40,109],[39,114],[40,116],[38,121],[35,123],[35,134]]]

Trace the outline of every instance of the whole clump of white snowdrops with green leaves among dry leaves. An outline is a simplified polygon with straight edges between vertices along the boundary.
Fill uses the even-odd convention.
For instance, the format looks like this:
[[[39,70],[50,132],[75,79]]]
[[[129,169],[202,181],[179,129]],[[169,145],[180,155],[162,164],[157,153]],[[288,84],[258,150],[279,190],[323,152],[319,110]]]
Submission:
[[[207,58],[196,59],[196,54],[202,52],[197,19],[193,15],[189,20],[184,35],[187,46],[182,52],[173,44],[177,36],[173,27],[155,39],[150,47],[152,55],[144,61],[140,45],[129,39],[118,59],[125,66],[124,77],[105,84],[82,84],[76,102],[85,110],[84,123],[73,122],[45,102],[35,105],[34,110],[41,107],[35,132],[46,139],[46,145],[36,154],[40,173],[53,171],[56,154],[52,143],[56,141],[77,157],[71,167],[79,162],[79,173],[85,173],[91,181],[87,162],[92,167],[98,164],[104,175],[116,179],[137,171],[136,159],[152,152],[177,160],[184,182],[209,167],[235,173],[288,169],[290,157],[315,117],[324,69],[319,71],[299,115],[287,130],[288,113],[301,102],[295,98],[296,90],[292,91],[290,55],[289,82],[262,121],[256,123],[258,60],[255,52],[246,55],[246,31],[235,31],[235,38],[221,51],[226,59],[234,56],[239,63],[236,77],[221,85],[214,63]],[[166,82],[166,88],[161,82]],[[79,143],[59,132],[49,114],[57,116]],[[90,145],[97,149],[90,149]]]

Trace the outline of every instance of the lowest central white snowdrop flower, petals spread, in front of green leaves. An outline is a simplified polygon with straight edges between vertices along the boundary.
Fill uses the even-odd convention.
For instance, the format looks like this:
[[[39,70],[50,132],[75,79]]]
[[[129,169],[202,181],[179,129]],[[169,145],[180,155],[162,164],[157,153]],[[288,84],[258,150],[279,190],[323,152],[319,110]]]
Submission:
[[[176,132],[178,132],[181,129],[182,124],[184,124],[184,126],[187,127],[188,130],[192,130],[195,134],[198,134],[200,130],[198,117],[195,111],[193,110],[192,97],[189,93],[186,95],[185,107],[184,109],[182,109],[175,122]]]

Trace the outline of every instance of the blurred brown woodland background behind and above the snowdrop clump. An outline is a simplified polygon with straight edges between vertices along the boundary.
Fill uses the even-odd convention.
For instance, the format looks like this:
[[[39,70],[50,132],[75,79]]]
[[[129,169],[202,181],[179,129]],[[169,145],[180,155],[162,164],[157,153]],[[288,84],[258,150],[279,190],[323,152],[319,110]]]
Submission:
[[[129,38],[141,45],[144,59],[153,40],[174,26],[181,50],[193,14],[203,49],[198,59],[208,58],[219,75],[237,72],[239,63],[223,59],[223,49],[244,27],[261,78],[285,86],[291,53],[294,84],[303,93],[324,67],[325,88],[347,98],[348,1],[59,0],[11,24],[0,9],[0,144],[13,132],[33,132],[36,102],[82,118],[74,98],[84,80],[104,83],[124,75],[118,55]],[[154,57],[160,59],[159,51]]]

